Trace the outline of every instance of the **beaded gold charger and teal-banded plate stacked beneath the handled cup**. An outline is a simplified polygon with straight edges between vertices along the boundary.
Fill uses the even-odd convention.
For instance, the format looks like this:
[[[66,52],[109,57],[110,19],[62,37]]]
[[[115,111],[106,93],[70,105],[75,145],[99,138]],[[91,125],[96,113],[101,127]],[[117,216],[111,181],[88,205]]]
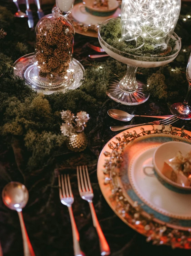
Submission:
[[[119,133],[100,154],[98,182],[112,210],[147,241],[191,249],[191,195],[170,191],[142,169],[168,141],[191,144],[191,132],[145,125]]]

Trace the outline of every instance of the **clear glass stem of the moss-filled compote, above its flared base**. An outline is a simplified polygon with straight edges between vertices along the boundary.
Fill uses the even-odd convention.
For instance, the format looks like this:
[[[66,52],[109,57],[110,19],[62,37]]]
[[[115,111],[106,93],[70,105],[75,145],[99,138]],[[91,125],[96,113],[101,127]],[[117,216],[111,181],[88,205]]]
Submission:
[[[135,91],[138,88],[138,83],[136,81],[137,67],[127,65],[127,73],[123,79],[119,82],[119,86],[125,91]]]

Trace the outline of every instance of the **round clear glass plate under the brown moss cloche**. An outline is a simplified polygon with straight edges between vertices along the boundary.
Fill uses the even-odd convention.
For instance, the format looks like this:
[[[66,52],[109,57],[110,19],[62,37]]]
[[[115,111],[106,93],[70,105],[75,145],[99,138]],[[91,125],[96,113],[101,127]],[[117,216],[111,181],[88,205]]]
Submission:
[[[50,86],[45,86],[43,82],[38,81],[38,77],[34,75],[34,53],[29,53],[14,62],[14,73],[25,79],[27,85],[36,90],[37,92],[43,92],[43,94],[52,94],[57,91],[64,92],[66,89],[76,89],[82,84],[84,76],[84,67],[76,59],[72,59],[72,69],[70,70],[70,76],[66,77],[66,81],[60,85],[58,81],[53,81]]]

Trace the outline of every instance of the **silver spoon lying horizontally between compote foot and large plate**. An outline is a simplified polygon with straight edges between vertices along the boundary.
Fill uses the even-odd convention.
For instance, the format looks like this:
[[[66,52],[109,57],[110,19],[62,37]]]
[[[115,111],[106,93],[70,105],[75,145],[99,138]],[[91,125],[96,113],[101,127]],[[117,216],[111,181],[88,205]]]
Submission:
[[[111,116],[112,118],[119,120],[119,121],[124,121],[128,122],[131,121],[131,119],[135,116],[141,116],[141,115],[131,115],[125,111],[119,110],[119,109],[109,109],[108,110],[108,115]],[[160,118],[160,119],[165,119],[168,117],[171,117],[172,115],[168,116],[142,116],[142,117],[152,117],[152,118]]]

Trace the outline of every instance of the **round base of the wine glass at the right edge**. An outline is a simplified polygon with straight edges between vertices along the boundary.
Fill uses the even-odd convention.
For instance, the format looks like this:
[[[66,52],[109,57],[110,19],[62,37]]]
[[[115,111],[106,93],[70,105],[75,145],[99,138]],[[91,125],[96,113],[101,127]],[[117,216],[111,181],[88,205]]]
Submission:
[[[182,120],[191,119],[191,107],[183,107],[182,103],[174,103],[170,106],[170,111],[173,115],[177,115]]]

